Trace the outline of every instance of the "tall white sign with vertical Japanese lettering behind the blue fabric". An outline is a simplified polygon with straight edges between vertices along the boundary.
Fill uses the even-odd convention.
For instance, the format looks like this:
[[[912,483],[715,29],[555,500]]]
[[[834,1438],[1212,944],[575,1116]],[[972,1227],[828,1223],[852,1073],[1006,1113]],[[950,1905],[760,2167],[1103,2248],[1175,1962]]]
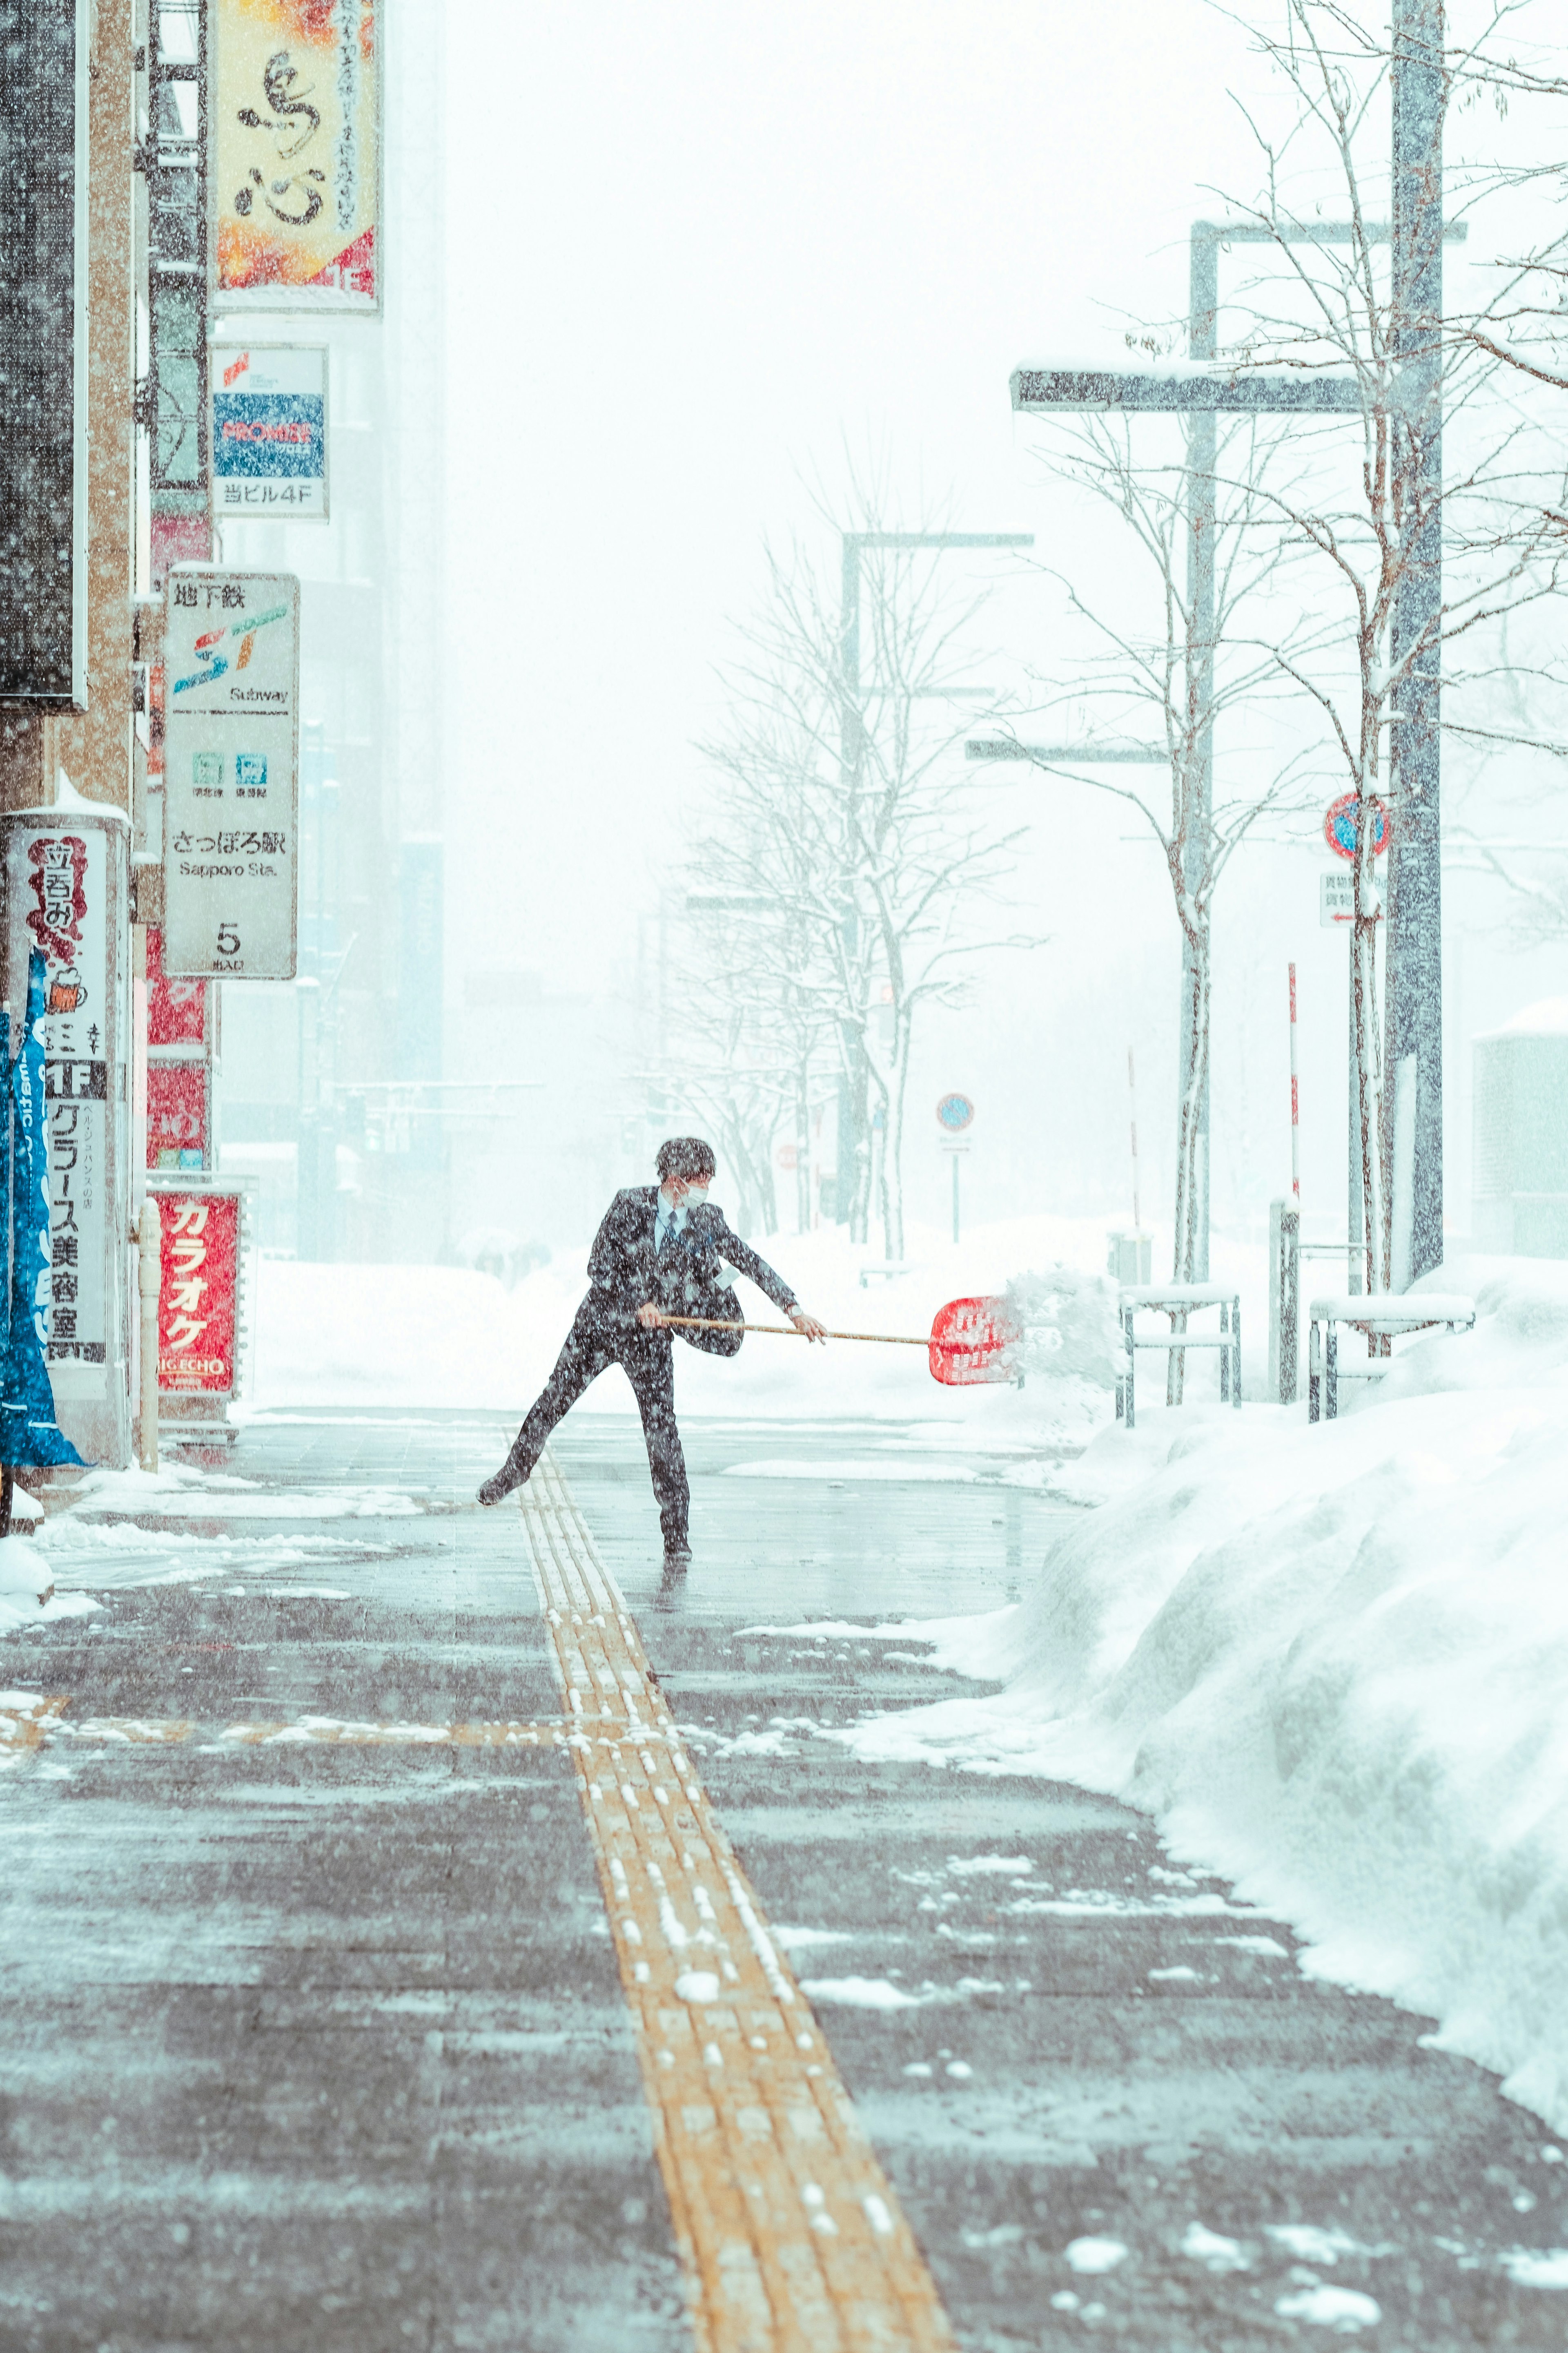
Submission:
[[[26,1000],[28,955],[38,951],[45,960],[45,1358],[61,1428],[85,1454],[115,1461],[129,1442],[129,828],[87,809],[16,812],[0,819],[0,828],[12,1007]]]

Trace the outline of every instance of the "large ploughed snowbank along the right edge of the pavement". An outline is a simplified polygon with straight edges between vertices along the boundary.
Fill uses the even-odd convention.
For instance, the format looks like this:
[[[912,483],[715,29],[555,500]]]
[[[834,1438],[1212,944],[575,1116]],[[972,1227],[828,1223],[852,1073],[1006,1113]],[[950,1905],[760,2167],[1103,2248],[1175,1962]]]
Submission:
[[[976,1626],[971,1671],[1006,1689],[851,1739],[1128,1798],[1309,1967],[1434,2014],[1561,2132],[1568,1266],[1434,1287],[1472,1289],[1476,1329],[1413,1341],[1349,1419],[1105,1431],[1067,1473],[1103,1508]]]

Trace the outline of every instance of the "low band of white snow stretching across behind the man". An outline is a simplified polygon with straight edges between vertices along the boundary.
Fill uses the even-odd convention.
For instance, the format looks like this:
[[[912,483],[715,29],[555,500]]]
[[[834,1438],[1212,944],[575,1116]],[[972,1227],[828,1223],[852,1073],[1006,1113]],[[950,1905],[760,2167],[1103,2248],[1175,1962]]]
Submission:
[[[929,1334],[947,1299],[1001,1292],[1034,1271],[1100,1278],[1107,1221],[1067,1217],[1009,1219],[978,1226],[961,1242],[914,1228],[907,1273],[872,1278],[860,1268],[877,1252],[851,1247],[842,1228],[773,1235],[757,1249],[795,1285],[799,1299],[835,1329]],[[1166,1247],[1157,1247],[1157,1266]],[[1248,1245],[1215,1247],[1215,1280],[1244,1294],[1246,1379],[1258,1386],[1267,1329],[1262,1320],[1267,1254]],[[277,1405],[470,1405],[522,1417],[543,1386],[578,1299],[588,1289],[588,1245],[505,1292],[494,1275],[461,1266],[301,1266],[261,1261],[256,1308],[254,1402]],[[1091,1285],[1093,1294],[1093,1285]],[[748,1282],[748,1318],[778,1322],[778,1311]],[[1110,1297],[1110,1292],[1105,1292]],[[1084,1299],[1103,1322],[1103,1304]],[[675,1351],[677,1400],[691,1414],[945,1421],[1023,1442],[1081,1445],[1112,1412],[1112,1367],[1086,1365],[1077,1351],[1081,1322],[1067,1304],[1060,1369],[1032,1351],[1030,1379],[1013,1388],[943,1388],[917,1348],[799,1339],[745,1341],[733,1360],[696,1348]],[[1093,1351],[1091,1351],[1093,1353]],[[1100,1351],[1103,1355],[1103,1351]],[[1194,1374],[1199,1393],[1215,1388],[1213,1355]],[[581,1412],[628,1412],[630,1388],[604,1374]]]

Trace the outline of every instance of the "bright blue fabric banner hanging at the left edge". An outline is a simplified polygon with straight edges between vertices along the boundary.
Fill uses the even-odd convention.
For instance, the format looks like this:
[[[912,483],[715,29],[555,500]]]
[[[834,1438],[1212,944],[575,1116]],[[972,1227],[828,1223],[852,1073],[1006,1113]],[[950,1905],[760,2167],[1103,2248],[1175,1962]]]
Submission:
[[[0,1355],[0,1464],[80,1464],[54,1419],[45,1360],[49,1299],[49,1129],[45,1106],[45,960],[28,958],[28,1016],[21,1052],[9,1059],[9,1014],[0,1012],[5,1049],[5,1174],[12,1205],[12,1301]]]

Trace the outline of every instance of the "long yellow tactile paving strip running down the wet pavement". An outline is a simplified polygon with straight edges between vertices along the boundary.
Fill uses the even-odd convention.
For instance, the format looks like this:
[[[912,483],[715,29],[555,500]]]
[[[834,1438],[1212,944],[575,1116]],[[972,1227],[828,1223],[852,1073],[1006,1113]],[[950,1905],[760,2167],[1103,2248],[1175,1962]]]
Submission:
[[[698,2353],[903,2353],[952,2329],[637,1628],[545,1454],[522,1489]]]

